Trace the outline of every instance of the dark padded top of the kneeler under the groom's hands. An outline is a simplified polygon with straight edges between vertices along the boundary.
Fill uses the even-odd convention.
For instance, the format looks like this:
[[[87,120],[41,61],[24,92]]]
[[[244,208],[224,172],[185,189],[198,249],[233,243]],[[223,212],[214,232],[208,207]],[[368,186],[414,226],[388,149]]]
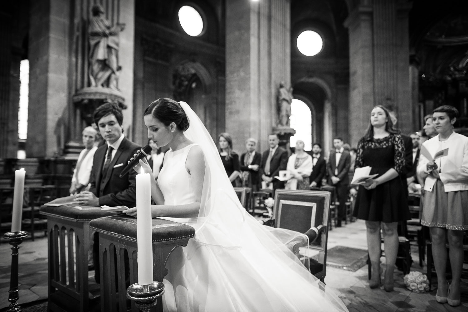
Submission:
[[[115,216],[116,214],[109,211],[103,210],[80,210],[76,209],[73,206],[42,206],[39,209],[40,213],[45,216],[53,216],[63,219],[69,219],[73,221],[91,221],[93,219],[107,217],[107,216]]]

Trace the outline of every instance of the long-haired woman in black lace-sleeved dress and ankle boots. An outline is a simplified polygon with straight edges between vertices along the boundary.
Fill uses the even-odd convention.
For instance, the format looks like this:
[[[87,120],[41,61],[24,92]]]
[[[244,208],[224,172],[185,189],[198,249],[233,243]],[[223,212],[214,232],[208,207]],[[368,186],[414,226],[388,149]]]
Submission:
[[[366,135],[359,140],[356,168],[370,166],[370,174],[359,190],[353,215],[366,220],[367,248],[372,265],[370,288],[380,286],[380,228],[385,245],[384,288],[392,291],[393,271],[398,252],[398,221],[409,219],[406,191],[400,174],[405,165],[405,149],[383,106],[372,109]]]

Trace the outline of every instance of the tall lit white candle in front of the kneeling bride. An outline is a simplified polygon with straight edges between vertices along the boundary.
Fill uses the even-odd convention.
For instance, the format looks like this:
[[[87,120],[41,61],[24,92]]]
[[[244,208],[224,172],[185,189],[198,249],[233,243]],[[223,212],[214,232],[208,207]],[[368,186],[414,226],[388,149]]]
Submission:
[[[142,170],[143,171],[143,170]],[[137,174],[138,283],[153,283],[150,174]]]

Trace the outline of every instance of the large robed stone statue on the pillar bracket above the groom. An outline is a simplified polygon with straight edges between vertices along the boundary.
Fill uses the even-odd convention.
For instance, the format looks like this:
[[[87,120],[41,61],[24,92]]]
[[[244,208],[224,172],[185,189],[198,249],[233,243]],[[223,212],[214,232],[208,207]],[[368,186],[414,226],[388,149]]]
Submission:
[[[109,87],[117,90],[118,73],[122,68],[117,64],[119,33],[125,24],[112,26],[103,15],[104,8],[95,4],[89,21],[89,80],[91,87]]]

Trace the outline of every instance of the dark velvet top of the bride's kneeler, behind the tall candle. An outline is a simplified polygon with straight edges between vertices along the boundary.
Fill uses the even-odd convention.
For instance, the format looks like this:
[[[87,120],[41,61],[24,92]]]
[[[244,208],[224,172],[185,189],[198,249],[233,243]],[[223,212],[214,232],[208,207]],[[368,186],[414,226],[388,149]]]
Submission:
[[[195,236],[195,229],[189,225],[158,218],[152,219],[151,222],[153,243]],[[98,218],[91,221],[89,227],[100,233],[137,241],[137,219],[133,217],[113,216]]]

